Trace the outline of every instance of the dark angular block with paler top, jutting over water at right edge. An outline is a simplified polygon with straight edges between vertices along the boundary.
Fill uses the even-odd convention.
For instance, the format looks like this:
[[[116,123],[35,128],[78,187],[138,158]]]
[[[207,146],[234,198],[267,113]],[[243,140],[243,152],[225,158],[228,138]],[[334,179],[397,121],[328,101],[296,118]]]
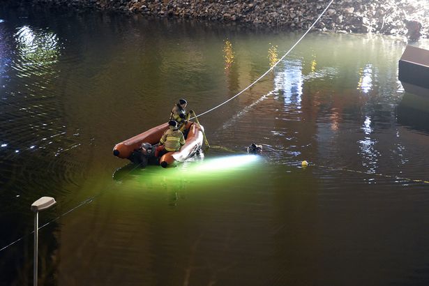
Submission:
[[[405,91],[429,96],[429,50],[408,45],[399,60],[398,78]]]

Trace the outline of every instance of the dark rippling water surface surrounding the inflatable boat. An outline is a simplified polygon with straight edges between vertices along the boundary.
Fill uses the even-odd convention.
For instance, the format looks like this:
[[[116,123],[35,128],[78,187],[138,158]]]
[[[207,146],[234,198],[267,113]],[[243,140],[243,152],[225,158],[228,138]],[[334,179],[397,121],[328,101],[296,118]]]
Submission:
[[[401,40],[310,33],[200,118],[263,156],[142,170],[114,144],[231,98],[301,33],[0,10],[0,285],[31,285],[45,195],[39,285],[429,284],[429,99],[398,82]]]

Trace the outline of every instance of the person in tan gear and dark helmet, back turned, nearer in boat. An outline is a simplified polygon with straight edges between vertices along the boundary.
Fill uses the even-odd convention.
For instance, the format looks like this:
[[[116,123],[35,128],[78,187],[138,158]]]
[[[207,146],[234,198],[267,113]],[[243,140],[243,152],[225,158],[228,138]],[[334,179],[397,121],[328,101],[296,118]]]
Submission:
[[[179,130],[177,121],[168,121],[168,126],[169,128],[165,130],[161,137],[159,146],[156,147],[155,157],[163,156],[168,152],[179,151],[180,147],[185,144],[185,137],[183,136],[183,133],[181,133],[181,130]]]

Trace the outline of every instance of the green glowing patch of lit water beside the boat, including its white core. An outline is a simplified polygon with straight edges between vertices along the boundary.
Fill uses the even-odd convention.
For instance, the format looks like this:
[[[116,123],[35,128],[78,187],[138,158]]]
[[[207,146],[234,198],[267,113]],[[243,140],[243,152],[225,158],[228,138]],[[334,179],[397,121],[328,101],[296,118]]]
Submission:
[[[190,158],[170,168],[129,165],[114,173],[112,189],[118,194],[115,200],[127,209],[141,208],[142,203],[157,211],[165,206],[216,207],[227,194],[244,200],[241,195],[249,186],[263,190],[266,182],[260,178],[266,177],[266,168],[262,165],[263,157],[254,155]]]

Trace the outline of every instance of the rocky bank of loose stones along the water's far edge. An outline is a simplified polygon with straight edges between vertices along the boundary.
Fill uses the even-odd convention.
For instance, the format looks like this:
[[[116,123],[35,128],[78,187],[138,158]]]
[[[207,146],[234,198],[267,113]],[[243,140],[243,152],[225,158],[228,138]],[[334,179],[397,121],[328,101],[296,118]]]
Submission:
[[[15,0],[15,3],[17,3]],[[329,0],[22,0],[21,5],[50,4],[97,8],[156,17],[181,17],[252,26],[308,29]],[[334,0],[315,29],[340,33],[383,33],[429,38],[427,0]]]

